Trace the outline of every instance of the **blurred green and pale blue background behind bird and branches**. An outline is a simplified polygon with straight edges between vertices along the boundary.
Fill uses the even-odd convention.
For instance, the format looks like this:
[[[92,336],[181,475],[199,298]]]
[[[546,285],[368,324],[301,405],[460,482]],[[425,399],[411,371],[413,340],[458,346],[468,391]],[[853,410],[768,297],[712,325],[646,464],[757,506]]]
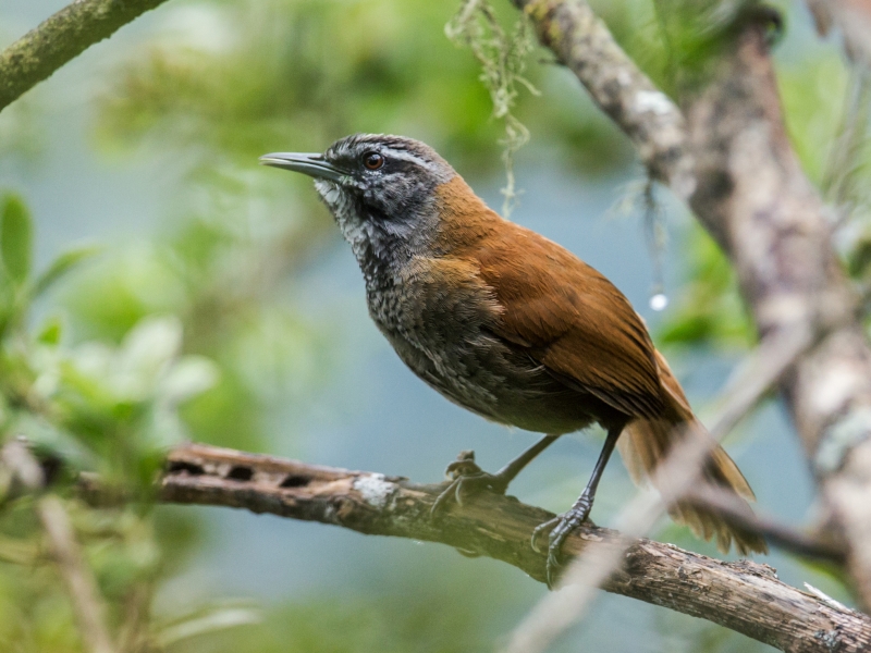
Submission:
[[[3,0],[0,45],[64,4]],[[505,38],[523,44],[516,14],[501,4]],[[802,3],[775,4],[787,25],[774,57],[788,127],[827,192],[832,144],[858,115],[861,87]],[[680,62],[654,4],[593,5],[671,88]],[[20,225],[7,231],[26,250],[3,291],[0,418],[5,433],[142,491],[121,508],[68,504],[130,650],[489,651],[547,591],[513,567],[438,544],[147,501],[159,453],[186,439],[420,482],[440,480],[461,449],[492,470],[533,441],[450,404],[405,369],[369,320],[356,262],[310,181],[257,164],[262,153],[320,151],[353,132],[402,134],[436,147],[502,207],[506,121],[473,50],[445,35],[458,8],[172,0],[0,114],[3,220]],[[519,73],[525,62],[539,93],[514,87],[508,126],[530,138],[514,156],[511,218],[608,275],[710,416],[755,342],[728,266],[666,192],[655,193],[651,218],[627,140],[552,54],[526,50],[518,46],[515,65]],[[862,215],[851,220],[847,259],[864,234]],[[661,291],[670,301],[655,312],[650,298]],[[563,438],[512,493],[564,509],[600,445],[596,430]],[[812,519],[812,482],[776,401],[725,445],[760,510],[793,525]],[[609,525],[634,492],[623,466],[610,466],[594,520]],[[0,649],[81,651],[30,507],[12,502],[0,514]],[[667,521],[652,535],[716,555]],[[823,569],[777,552],[759,562],[849,602]],[[556,650],[581,646],[770,650],[604,593]]]

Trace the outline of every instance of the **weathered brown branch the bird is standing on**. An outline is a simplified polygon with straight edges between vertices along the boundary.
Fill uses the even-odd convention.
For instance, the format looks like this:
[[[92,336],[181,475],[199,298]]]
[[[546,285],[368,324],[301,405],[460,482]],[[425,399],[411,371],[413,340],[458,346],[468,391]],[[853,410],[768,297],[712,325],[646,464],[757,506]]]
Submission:
[[[170,454],[159,496],[441,542],[506,562],[544,581],[545,556],[532,550],[529,538],[551,513],[488,494],[452,507],[433,522],[430,507],[441,488],[187,445]],[[615,531],[585,525],[566,541],[565,551],[577,555],[617,538]],[[708,619],[782,651],[831,653],[833,642],[844,653],[871,646],[869,617],[784,584],[770,567],[723,563],[647,539],[633,544],[603,589]]]

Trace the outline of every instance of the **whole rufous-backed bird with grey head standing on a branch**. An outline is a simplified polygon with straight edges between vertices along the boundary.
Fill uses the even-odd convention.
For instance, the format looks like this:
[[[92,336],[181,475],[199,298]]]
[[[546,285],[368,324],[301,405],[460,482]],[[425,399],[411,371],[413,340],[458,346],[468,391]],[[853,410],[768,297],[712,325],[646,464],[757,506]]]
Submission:
[[[603,274],[556,243],[491,210],[428,145],[354,134],[323,153],[275,152],[260,163],[303,173],[351,245],[369,315],[398,357],[451,402],[501,424],[542,433],[495,473],[471,456],[433,515],[478,492],[505,493],[557,438],[600,424],[605,442],[584,492],[548,533],[549,584],[567,535],[588,519],[614,448],[636,482],[654,471],[682,433],[711,438],[692,412],[641,317]],[[753,492],[712,443],[702,482],[750,513]],[[661,482],[661,479],[660,481]],[[758,533],[688,502],[670,514],[721,551],[766,552]]]

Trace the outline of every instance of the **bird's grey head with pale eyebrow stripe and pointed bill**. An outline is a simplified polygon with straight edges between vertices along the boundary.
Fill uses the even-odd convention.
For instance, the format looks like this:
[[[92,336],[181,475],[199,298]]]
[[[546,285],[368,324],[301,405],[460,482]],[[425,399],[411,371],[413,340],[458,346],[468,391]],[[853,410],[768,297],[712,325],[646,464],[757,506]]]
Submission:
[[[456,176],[428,145],[382,134],[347,136],[322,155],[278,152],[260,162],[315,177],[361,263],[425,247],[438,227],[437,189]]]

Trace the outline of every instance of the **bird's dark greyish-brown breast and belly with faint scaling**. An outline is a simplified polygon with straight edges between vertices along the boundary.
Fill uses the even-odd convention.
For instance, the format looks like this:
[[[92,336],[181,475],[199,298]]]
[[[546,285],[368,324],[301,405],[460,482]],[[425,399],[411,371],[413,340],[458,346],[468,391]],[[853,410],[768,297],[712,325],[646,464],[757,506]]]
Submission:
[[[415,374],[500,423],[567,433],[593,419],[575,391],[493,334],[496,316],[480,286],[447,287],[419,268],[367,283],[369,313]]]

